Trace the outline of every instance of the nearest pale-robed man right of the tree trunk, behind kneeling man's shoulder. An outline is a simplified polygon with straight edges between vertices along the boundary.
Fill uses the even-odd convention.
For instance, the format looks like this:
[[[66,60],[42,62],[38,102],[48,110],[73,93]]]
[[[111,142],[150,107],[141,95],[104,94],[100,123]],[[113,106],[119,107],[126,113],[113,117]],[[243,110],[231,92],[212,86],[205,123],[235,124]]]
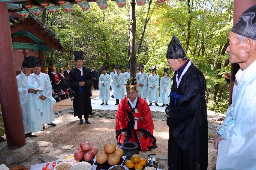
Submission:
[[[139,85],[138,96],[147,100],[148,97],[148,74],[144,72],[144,64],[140,64],[140,73],[136,74],[137,84]]]

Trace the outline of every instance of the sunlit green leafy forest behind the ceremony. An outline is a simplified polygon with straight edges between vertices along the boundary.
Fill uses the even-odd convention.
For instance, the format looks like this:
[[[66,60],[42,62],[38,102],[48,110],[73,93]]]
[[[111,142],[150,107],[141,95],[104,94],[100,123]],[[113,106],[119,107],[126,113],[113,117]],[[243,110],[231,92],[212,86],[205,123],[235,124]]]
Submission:
[[[233,0],[167,0],[157,4],[156,0],[146,0],[144,6],[136,4],[136,56],[137,66],[145,64],[145,72],[156,66],[156,73],[163,76],[163,68],[168,68],[167,46],[175,33],[182,43],[188,58],[206,78],[206,101],[209,110],[225,113],[228,108],[229,84],[224,73],[230,72],[230,63],[225,52],[227,37],[233,26]],[[85,54],[84,64],[101,73],[102,66],[120,64],[121,72],[126,72],[129,64],[130,1],[119,8],[116,1],[107,1],[108,8],[101,10],[95,2],[91,9],[83,12],[73,5],[72,13],[53,15],[43,11],[40,18],[56,32],[65,49],[45,55],[47,67],[53,63],[57,70],[65,64],[73,64],[74,49]],[[171,78],[174,72],[169,70]],[[0,107],[1,112],[1,107]],[[2,119],[2,117],[1,117]],[[0,120],[0,134],[4,128]]]

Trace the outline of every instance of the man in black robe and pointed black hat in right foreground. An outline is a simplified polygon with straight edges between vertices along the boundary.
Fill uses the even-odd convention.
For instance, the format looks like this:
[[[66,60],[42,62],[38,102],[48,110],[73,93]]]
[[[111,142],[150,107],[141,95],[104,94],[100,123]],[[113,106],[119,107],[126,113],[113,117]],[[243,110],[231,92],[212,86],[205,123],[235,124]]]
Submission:
[[[203,73],[187,59],[181,43],[173,34],[166,58],[175,71],[166,108],[169,126],[169,170],[207,169],[207,107]]]

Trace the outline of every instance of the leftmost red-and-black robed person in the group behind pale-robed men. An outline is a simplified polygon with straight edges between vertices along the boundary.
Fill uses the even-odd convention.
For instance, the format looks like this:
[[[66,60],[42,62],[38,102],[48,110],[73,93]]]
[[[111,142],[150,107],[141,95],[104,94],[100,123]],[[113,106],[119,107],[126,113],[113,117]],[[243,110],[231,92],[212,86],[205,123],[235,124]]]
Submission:
[[[50,80],[52,82],[52,87],[53,87],[53,98],[57,101],[60,102],[59,100],[59,95],[61,94],[61,87],[60,87],[60,79],[59,75],[56,73],[56,67],[53,66],[51,68],[52,72],[49,73]]]

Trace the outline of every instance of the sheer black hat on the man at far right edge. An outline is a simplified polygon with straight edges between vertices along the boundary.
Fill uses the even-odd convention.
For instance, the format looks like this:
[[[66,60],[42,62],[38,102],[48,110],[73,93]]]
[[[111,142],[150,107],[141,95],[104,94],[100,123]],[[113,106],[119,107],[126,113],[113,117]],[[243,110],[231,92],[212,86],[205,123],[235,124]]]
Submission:
[[[256,40],[256,5],[245,10],[231,31]]]

